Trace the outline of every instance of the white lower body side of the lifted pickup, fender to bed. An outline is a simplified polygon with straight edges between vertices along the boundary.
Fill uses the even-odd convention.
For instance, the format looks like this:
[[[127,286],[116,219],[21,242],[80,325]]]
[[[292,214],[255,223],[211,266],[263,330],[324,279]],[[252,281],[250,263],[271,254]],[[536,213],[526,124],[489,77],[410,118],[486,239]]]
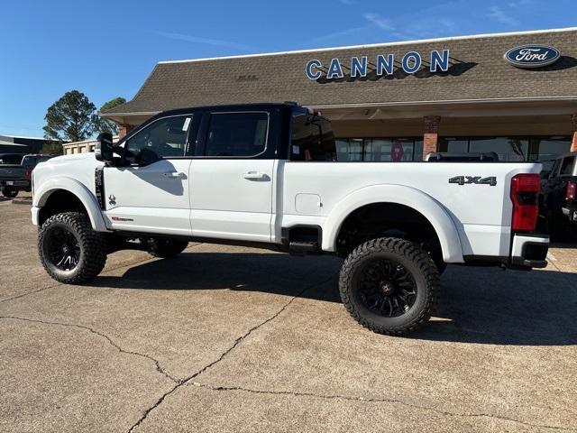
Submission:
[[[282,227],[321,226],[322,249],[334,252],[345,217],[358,207],[390,202],[429,220],[447,263],[462,263],[467,255],[508,256],[511,178],[541,170],[538,163],[506,162],[169,159],[145,167],[106,167],[107,209],[101,211],[95,198],[98,166],[103,163],[92,153],[39,165],[32,221],[38,221],[51,192],[66,189],[80,198],[97,231],[280,244]],[[497,185],[450,184],[453,176],[495,177]]]

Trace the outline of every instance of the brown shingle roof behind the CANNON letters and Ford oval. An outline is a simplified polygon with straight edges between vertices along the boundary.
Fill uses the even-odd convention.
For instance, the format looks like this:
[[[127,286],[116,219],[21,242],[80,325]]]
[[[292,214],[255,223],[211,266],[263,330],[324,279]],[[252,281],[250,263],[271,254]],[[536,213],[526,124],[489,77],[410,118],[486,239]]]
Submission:
[[[543,69],[517,69],[503,54],[522,44],[545,44],[562,58]],[[395,55],[396,67],[408,51],[423,60],[431,50],[449,49],[447,72],[408,75],[398,70],[388,78],[341,82],[310,80],[308,60],[324,66],[333,58],[350,64],[352,56],[366,55],[375,63],[379,54]],[[577,95],[577,29],[504,33],[479,37],[399,42],[334,50],[293,51],[282,54],[160,62],[132,101],[106,114],[150,113],[185,106],[298,101],[307,106],[426,102],[485,98],[571,97]],[[370,68],[373,69],[373,68]],[[345,73],[346,73],[346,69]],[[576,97],[577,99],[577,97]]]

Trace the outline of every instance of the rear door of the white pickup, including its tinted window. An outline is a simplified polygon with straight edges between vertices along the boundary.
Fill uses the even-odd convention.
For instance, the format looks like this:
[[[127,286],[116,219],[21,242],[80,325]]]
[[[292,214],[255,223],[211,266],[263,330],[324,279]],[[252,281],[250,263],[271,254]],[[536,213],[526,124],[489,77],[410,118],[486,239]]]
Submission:
[[[190,167],[192,233],[270,242],[274,145],[266,111],[207,113]]]

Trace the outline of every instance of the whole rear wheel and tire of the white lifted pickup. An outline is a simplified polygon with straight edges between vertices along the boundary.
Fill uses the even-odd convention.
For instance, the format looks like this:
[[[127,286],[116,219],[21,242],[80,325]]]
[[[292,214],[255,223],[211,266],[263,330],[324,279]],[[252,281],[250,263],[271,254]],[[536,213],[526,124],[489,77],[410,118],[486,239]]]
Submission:
[[[344,307],[363,327],[404,336],[431,317],[439,298],[439,272],[417,244],[395,237],[359,245],[343,263]]]

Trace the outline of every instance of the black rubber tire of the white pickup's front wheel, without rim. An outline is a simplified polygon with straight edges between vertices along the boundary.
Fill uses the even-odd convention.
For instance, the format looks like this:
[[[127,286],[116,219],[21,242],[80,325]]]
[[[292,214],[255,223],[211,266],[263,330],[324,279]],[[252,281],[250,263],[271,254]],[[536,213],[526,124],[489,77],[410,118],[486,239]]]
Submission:
[[[78,264],[72,270],[62,271],[50,261],[47,238],[50,230],[55,227],[69,230],[78,241],[80,255]],[[64,212],[56,214],[48,218],[39,231],[38,253],[42,266],[56,281],[79,284],[96,277],[105,267],[106,251],[105,235],[95,232],[90,224],[90,219],[83,213]]]

